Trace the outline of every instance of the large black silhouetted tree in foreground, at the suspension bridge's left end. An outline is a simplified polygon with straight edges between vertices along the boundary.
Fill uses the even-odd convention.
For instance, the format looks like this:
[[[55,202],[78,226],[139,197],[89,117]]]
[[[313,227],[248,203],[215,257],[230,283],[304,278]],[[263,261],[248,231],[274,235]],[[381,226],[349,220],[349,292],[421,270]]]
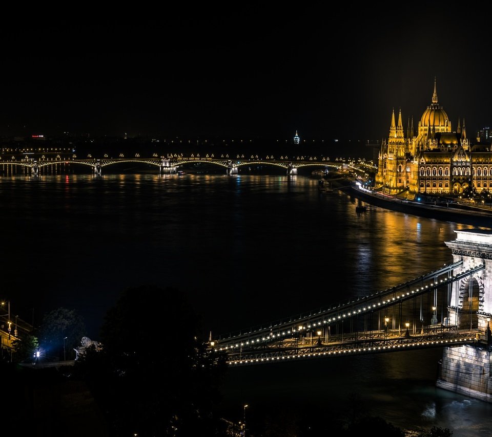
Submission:
[[[101,351],[77,360],[75,370],[104,405],[115,435],[215,432],[225,360],[207,351],[199,321],[169,287],[127,289],[107,312]]]

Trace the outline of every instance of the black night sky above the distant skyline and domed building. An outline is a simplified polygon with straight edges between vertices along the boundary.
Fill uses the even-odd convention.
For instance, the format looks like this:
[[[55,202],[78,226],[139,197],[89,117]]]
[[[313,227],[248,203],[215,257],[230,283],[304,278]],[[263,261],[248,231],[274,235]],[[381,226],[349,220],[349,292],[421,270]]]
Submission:
[[[454,128],[492,124],[487,11],[260,5],[11,24],[0,135],[381,139],[435,76]]]

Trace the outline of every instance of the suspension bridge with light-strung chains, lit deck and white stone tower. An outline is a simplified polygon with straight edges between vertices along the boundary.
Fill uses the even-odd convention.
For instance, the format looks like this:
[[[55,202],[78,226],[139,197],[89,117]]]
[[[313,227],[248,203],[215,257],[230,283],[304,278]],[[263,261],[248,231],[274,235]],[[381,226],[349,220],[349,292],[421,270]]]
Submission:
[[[492,231],[455,232],[463,241],[446,242],[449,265],[343,304],[210,338],[208,350],[233,366],[465,344],[490,350]]]

